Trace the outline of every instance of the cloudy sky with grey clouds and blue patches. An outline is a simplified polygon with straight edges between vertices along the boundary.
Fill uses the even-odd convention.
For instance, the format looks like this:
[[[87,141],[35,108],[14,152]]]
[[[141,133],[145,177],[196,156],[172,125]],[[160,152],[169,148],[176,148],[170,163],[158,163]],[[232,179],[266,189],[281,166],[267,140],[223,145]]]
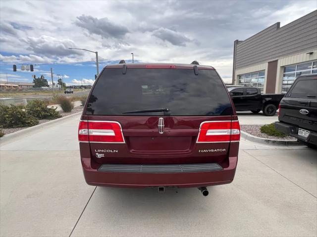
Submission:
[[[263,1],[0,1],[0,81],[50,79],[50,68],[68,84],[91,84],[100,68],[131,52],[139,62],[212,65],[224,81],[232,75],[234,40],[245,40],[317,8],[316,0]],[[12,64],[36,64],[13,72]],[[19,70],[18,66],[18,70]]]

